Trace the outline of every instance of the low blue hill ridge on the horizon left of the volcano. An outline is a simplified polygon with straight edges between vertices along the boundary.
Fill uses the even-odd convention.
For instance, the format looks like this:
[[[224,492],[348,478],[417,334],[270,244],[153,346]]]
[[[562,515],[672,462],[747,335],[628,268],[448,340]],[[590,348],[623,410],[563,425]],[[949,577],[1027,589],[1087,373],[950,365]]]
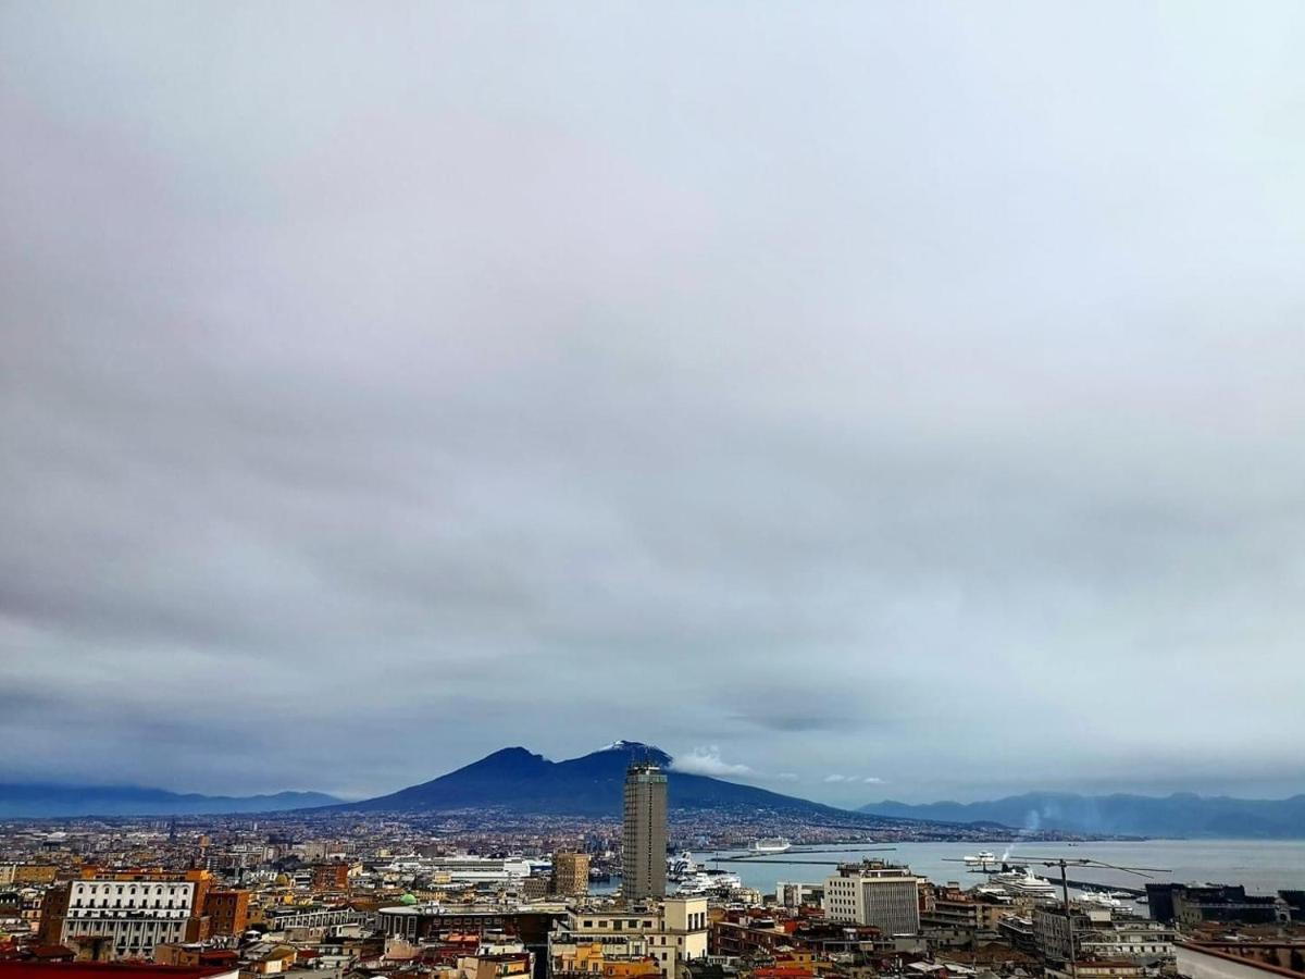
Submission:
[[[275,795],[183,795],[141,786],[0,783],[0,818],[64,816],[197,816],[283,812],[338,803],[324,792]]]

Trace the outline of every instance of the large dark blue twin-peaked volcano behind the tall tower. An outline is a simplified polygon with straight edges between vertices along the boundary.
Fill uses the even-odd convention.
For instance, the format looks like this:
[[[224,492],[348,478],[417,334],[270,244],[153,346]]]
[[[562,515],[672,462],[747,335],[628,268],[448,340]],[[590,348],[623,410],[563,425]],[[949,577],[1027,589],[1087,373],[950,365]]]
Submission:
[[[504,748],[429,782],[334,808],[342,812],[406,813],[499,808],[522,815],[615,816],[621,812],[625,770],[632,760],[643,758],[667,769],[667,798],[672,811],[733,809],[855,828],[876,825],[874,818],[847,809],[707,775],[675,771],[669,754],[637,741],[617,741],[568,761],[549,761],[525,748]],[[915,817],[908,817],[908,821],[921,822]],[[893,818],[877,822],[900,828],[904,821]],[[959,828],[936,829],[946,833]]]

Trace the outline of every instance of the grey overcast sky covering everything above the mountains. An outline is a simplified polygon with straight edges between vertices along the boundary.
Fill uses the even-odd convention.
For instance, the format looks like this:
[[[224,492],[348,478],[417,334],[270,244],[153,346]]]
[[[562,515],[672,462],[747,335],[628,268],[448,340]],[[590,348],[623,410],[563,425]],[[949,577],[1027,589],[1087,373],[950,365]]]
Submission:
[[[1305,791],[1302,37],[5,3],[0,777]]]

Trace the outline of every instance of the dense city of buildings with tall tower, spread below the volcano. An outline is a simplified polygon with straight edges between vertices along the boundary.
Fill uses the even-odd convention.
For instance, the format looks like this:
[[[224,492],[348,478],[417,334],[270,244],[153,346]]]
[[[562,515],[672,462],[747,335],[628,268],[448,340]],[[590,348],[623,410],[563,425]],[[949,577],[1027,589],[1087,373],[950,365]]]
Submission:
[[[672,824],[652,762],[630,765],[622,803],[499,828],[381,813],[0,824],[0,979],[1305,975],[1302,892],[1108,890],[990,851],[929,880],[840,856],[865,841]],[[758,889],[731,869],[776,854],[810,876]]]

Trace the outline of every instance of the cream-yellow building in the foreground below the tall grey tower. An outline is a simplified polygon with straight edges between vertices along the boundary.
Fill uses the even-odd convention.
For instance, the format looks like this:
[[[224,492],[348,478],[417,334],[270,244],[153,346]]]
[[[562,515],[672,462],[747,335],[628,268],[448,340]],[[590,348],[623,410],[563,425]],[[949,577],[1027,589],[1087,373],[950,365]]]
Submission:
[[[677,962],[707,954],[707,899],[663,898],[646,910],[570,909],[549,936],[549,946],[586,941],[602,942],[620,956],[651,956],[662,975],[675,979]]]

